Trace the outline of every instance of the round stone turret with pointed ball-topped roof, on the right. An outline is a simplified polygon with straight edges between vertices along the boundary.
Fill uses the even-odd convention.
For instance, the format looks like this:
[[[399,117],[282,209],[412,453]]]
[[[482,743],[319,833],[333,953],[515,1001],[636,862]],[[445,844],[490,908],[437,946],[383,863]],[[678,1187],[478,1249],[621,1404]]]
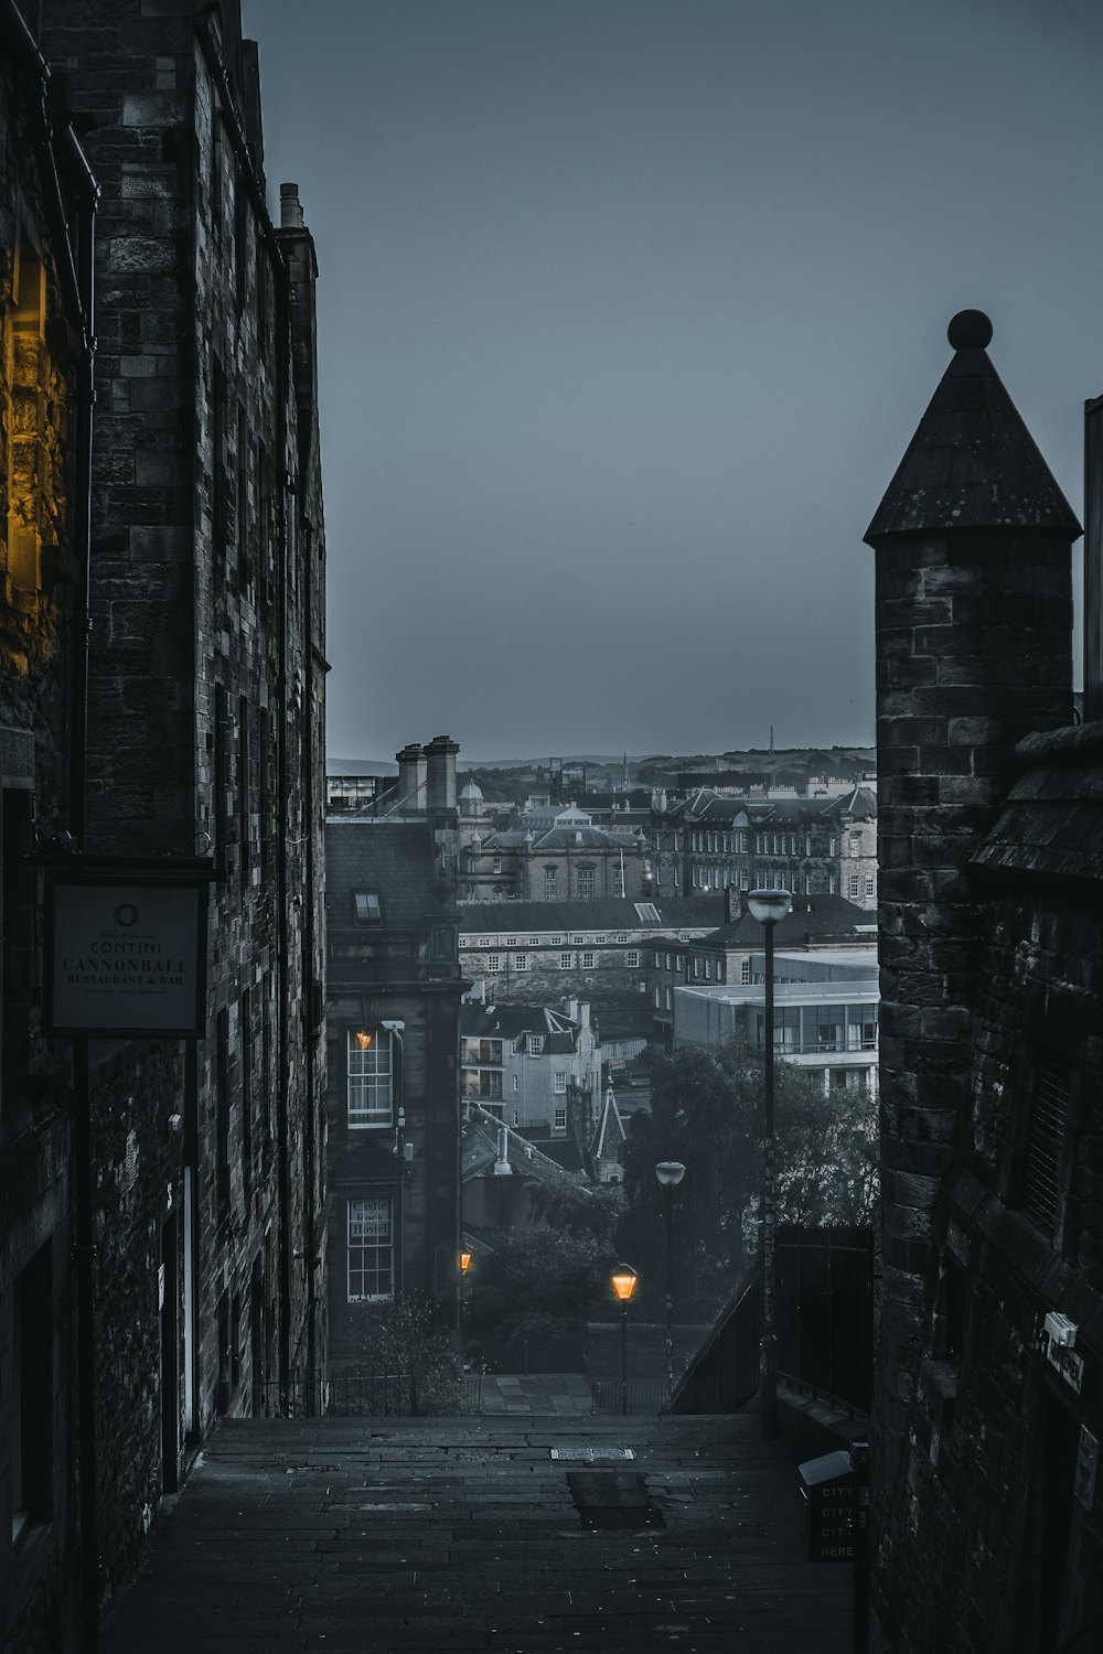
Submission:
[[[876,552],[883,1490],[918,1378],[938,1183],[954,1150],[969,1151],[981,943],[969,860],[1019,772],[1015,743],[1072,719],[1080,524],[989,361],[991,337],[979,311],[954,316],[954,357],[865,536]]]

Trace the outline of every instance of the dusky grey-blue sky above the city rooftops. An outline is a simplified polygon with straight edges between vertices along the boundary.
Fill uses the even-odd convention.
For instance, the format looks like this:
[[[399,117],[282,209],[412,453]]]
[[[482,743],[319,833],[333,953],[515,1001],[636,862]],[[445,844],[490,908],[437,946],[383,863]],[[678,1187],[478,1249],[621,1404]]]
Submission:
[[[967,306],[1080,514],[1100,0],[245,30],[321,268],[331,754],[871,741],[862,534]]]

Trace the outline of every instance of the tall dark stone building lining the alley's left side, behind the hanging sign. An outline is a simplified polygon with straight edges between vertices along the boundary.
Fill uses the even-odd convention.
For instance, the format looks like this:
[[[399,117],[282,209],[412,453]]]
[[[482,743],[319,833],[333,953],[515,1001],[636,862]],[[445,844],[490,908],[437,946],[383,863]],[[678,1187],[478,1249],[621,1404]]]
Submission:
[[[284,185],[281,225],[268,213],[256,46],[241,40],[235,0],[103,0],[94,18],[78,0],[41,0],[33,13],[38,50],[66,86],[101,190],[96,402],[89,433],[69,389],[89,329],[68,283],[91,275],[93,243],[88,237],[71,255],[63,245],[64,222],[74,235],[83,223],[79,152],[56,114],[43,124],[36,112],[18,114],[30,121],[20,136],[33,134],[31,146],[5,146],[0,190],[15,169],[28,296],[31,250],[41,265],[40,395],[58,430],[68,423],[69,457],[64,466],[55,458],[40,415],[38,476],[53,504],[36,524],[15,513],[8,572],[28,594],[13,609],[36,617],[38,638],[53,605],[61,652],[71,625],[74,638],[88,637],[88,662],[84,675],[81,650],[60,663],[50,643],[41,655],[50,693],[31,710],[18,691],[23,706],[3,721],[35,729],[41,853],[68,845],[73,867],[88,855],[116,868],[202,857],[212,873],[205,1037],[88,1045],[96,1247],[89,1290],[76,1305],[76,1325],[88,1312],[91,1331],[76,1343],[81,1360],[94,1348],[94,1370],[79,1373],[79,1429],[56,1414],[55,1477],[66,1474],[66,1451],[79,1451],[91,1624],[215,1416],[273,1404],[293,1379],[309,1378],[324,1346],[314,251],[293,185]],[[15,38],[10,5],[3,22]],[[18,56],[5,51],[3,66],[17,66],[33,111],[31,81],[41,71],[25,31],[20,38]],[[38,222],[40,203],[50,207],[30,170],[36,165],[48,187],[50,132],[64,190],[53,225]],[[5,235],[8,280],[10,245]],[[17,298],[21,346],[36,329]],[[55,354],[61,372],[50,379]],[[91,463],[81,470],[86,440]],[[84,500],[91,627],[81,617]],[[30,592],[35,561],[38,595]],[[28,657],[28,683],[38,670]],[[12,758],[23,789],[25,749],[23,734]],[[20,809],[12,844],[26,815]],[[12,973],[7,913],[5,958]],[[23,999],[40,986],[40,956],[30,958]],[[41,1078],[53,1059],[35,1039],[33,1014],[21,1037],[41,1100],[55,1083]],[[5,1150],[5,1173],[10,1164]],[[63,1135],[50,1146],[50,1166],[48,1179],[25,1186],[36,1186],[43,1212],[50,1206],[60,1221],[74,1197]],[[45,1219],[36,1222],[35,1236],[48,1237]],[[26,1236],[10,1239],[18,1232],[5,1212],[13,1269],[26,1244]],[[40,1272],[43,1255],[31,1260]],[[63,1363],[74,1338],[64,1229],[55,1231],[48,1259],[53,1287],[48,1274],[33,1285],[53,1292],[55,1361]],[[15,1303],[8,1292],[0,1322],[8,1336],[21,1303],[30,1305],[30,1288],[17,1290]],[[43,1373],[33,1374],[40,1383]],[[13,1427],[8,1414],[8,1465]],[[63,1546],[73,1538],[69,1523]],[[33,1553],[45,1550],[35,1543]],[[5,1646],[51,1654],[73,1646],[69,1624],[61,1634],[56,1623],[35,1621],[23,1581],[18,1599],[26,1613]]]

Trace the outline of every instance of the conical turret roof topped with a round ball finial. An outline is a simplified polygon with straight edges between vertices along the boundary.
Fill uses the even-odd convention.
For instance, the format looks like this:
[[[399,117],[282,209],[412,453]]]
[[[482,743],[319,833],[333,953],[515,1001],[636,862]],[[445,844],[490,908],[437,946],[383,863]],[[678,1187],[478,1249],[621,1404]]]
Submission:
[[[865,539],[954,528],[1045,528],[1070,539],[1080,523],[989,361],[992,324],[961,311],[954,357],[919,420]]]

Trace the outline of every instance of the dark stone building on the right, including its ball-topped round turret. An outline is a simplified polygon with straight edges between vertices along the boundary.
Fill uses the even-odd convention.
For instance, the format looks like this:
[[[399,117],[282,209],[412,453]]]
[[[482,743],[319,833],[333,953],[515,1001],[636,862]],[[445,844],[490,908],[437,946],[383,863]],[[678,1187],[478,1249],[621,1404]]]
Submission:
[[[1080,528],[991,336],[976,311],[951,323],[954,356],[867,533],[873,1586],[900,1654],[1078,1654],[1103,1636],[1103,724],[1073,724]]]

